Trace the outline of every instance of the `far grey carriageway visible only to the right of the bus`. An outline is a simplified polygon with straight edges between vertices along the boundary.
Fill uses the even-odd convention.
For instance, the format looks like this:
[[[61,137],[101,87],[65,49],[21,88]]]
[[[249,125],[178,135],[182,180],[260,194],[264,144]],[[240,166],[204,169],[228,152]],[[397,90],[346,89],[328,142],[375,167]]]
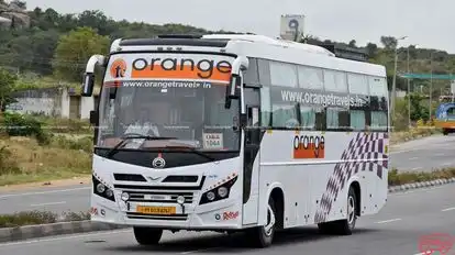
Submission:
[[[455,167],[455,135],[434,135],[393,146],[390,164],[400,171]]]

